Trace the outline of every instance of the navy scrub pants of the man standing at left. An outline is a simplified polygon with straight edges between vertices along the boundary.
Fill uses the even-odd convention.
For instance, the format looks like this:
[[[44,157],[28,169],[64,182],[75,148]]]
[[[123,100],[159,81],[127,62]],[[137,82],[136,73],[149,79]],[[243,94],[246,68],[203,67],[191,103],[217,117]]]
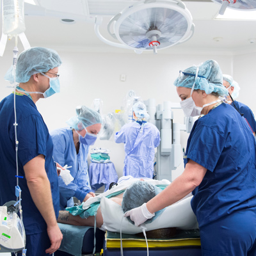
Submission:
[[[45,250],[51,247],[51,242],[48,237],[47,231],[26,235],[26,256],[46,256],[50,255],[49,253],[45,253]],[[14,255],[12,253],[12,255]],[[52,255],[52,254],[51,254]],[[21,256],[21,253],[18,253],[18,256]]]

